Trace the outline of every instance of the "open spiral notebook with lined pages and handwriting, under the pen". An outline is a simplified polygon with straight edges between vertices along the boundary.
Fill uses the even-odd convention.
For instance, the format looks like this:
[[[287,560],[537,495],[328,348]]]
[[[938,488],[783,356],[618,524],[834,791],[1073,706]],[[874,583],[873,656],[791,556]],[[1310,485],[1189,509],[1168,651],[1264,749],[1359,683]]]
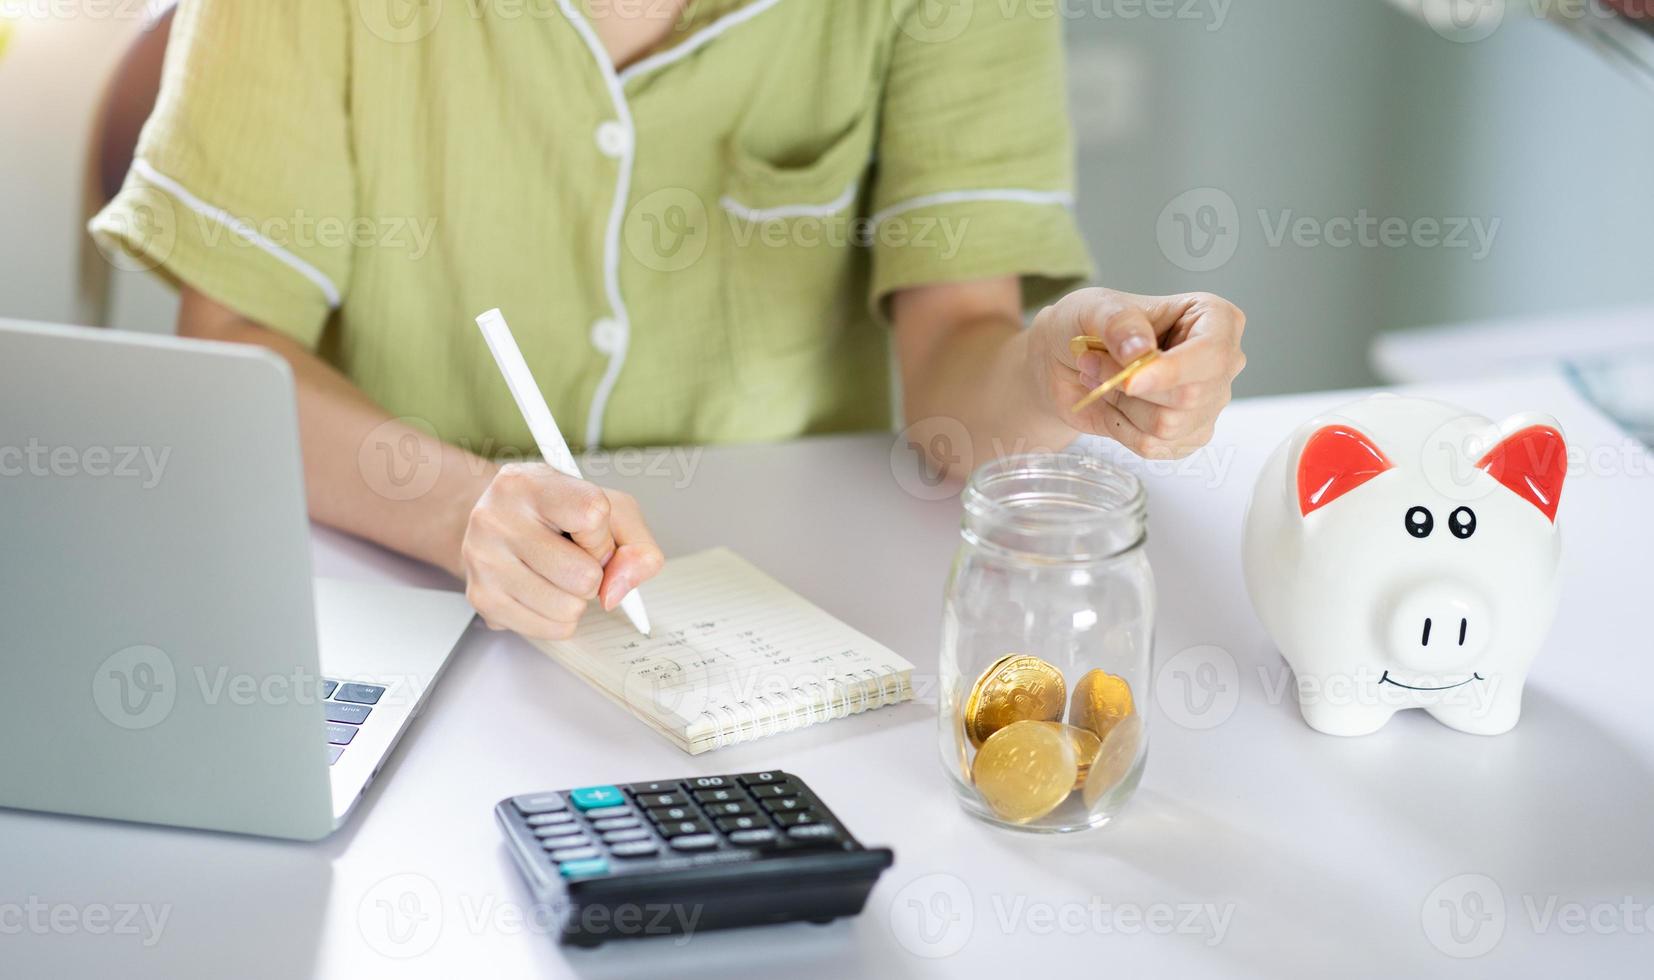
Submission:
[[[729,549],[667,562],[643,598],[653,636],[594,611],[536,646],[691,755],[913,697],[913,664]]]

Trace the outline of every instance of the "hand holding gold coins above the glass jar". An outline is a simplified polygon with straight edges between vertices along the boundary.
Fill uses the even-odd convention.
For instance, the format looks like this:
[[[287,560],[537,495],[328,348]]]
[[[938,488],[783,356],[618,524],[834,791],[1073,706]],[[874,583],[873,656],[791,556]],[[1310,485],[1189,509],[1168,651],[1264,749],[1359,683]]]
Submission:
[[[1047,306],[1030,327],[1039,400],[1067,426],[1108,436],[1150,459],[1183,458],[1212,438],[1229,385],[1245,367],[1245,314],[1211,293],[1133,296],[1078,289]],[[1108,354],[1075,355],[1078,335]],[[1159,347],[1154,362],[1078,415],[1070,408],[1123,365]]]

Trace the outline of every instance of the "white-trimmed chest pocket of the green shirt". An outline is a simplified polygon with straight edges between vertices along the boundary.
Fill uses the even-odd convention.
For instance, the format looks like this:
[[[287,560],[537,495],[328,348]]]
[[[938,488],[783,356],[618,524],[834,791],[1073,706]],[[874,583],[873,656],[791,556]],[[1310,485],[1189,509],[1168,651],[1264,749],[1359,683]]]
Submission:
[[[771,162],[731,139],[724,149],[723,296],[736,373],[781,382],[822,359],[865,306],[863,190],[873,111],[802,164]]]

